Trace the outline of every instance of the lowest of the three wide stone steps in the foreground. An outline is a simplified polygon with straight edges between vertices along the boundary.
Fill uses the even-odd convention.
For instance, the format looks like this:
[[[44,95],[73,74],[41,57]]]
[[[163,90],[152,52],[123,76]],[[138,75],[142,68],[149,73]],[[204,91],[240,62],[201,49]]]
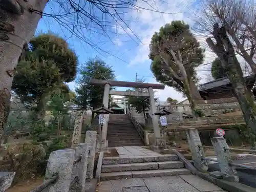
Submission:
[[[136,170],[130,172],[112,172],[100,174],[100,180],[118,180],[129,178],[142,178],[142,177],[163,177],[174,175],[188,175],[191,174],[190,170],[186,168],[175,169],[157,169],[157,170]]]

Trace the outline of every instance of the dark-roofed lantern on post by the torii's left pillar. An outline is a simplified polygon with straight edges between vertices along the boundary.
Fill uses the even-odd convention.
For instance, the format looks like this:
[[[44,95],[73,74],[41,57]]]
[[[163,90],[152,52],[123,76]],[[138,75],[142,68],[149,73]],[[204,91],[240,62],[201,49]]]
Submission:
[[[99,150],[100,150],[101,145],[102,145],[101,132],[102,132],[103,124],[105,123],[105,115],[106,114],[111,114],[111,113],[113,113],[113,111],[105,108],[104,105],[103,105],[100,108],[97,108],[97,109],[93,110],[92,112],[99,115],[99,142],[100,142],[99,143]]]

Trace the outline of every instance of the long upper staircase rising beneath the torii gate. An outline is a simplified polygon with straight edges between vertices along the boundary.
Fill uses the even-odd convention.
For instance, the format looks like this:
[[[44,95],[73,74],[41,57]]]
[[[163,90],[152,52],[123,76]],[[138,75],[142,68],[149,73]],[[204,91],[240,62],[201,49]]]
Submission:
[[[132,121],[125,114],[110,115],[106,140],[108,147],[144,145]]]

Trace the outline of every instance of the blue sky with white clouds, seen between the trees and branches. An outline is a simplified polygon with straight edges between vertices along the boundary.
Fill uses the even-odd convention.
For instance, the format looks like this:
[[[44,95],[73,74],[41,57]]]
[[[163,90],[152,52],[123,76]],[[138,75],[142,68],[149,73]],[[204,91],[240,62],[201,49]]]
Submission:
[[[173,0],[172,2],[170,1],[171,3],[164,5],[161,1],[154,2],[156,2],[153,5],[155,9],[161,12],[175,12],[177,14],[164,14],[145,9],[138,11],[128,10],[122,15],[122,18],[125,19],[125,23],[129,28],[122,22],[112,20],[111,27],[105,28],[108,30],[108,36],[99,34],[102,32],[98,28],[93,29],[95,25],[93,25],[93,28],[90,30],[83,28],[78,31],[80,34],[83,34],[90,44],[97,45],[101,50],[95,50],[95,46],[90,46],[84,41],[84,38],[81,40],[74,35],[72,36],[67,28],[59,25],[56,20],[51,17],[43,17],[40,20],[36,33],[51,30],[67,39],[70,47],[75,50],[79,57],[79,65],[82,65],[89,58],[99,57],[113,67],[117,80],[135,81],[137,73],[138,78],[144,78],[146,82],[158,83],[150,71],[151,62],[148,59],[148,45],[151,37],[161,26],[172,22],[172,20],[184,20],[190,26],[193,26],[195,19],[193,19],[191,15],[195,15],[195,8],[198,3],[193,0]],[[139,3],[138,6],[150,8],[150,6],[143,2]],[[191,10],[194,11],[191,12]],[[59,13],[61,9],[55,3],[49,3],[45,12]],[[205,39],[202,41],[204,40]],[[214,59],[212,53],[206,51],[205,63],[212,59]],[[198,69],[199,76],[202,78],[201,82],[211,80],[209,78],[209,67],[210,66],[203,66]],[[70,88],[73,89],[75,83],[71,82],[69,85]],[[125,89],[126,88],[117,88],[117,90]],[[159,97],[161,101],[165,101],[167,97],[172,97],[179,101],[184,100],[182,94],[177,93],[169,87],[166,87],[165,90],[157,91],[156,96]]]

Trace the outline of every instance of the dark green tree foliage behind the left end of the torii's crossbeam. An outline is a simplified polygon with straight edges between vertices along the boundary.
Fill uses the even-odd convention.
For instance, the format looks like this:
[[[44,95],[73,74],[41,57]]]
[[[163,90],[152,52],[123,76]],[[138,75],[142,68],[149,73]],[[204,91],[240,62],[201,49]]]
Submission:
[[[90,79],[110,80],[115,79],[115,74],[112,67],[97,58],[90,59],[84,64],[76,88],[76,104],[83,109],[95,109],[101,106],[103,101],[104,87],[90,84]],[[110,87],[110,90],[112,89]]]

